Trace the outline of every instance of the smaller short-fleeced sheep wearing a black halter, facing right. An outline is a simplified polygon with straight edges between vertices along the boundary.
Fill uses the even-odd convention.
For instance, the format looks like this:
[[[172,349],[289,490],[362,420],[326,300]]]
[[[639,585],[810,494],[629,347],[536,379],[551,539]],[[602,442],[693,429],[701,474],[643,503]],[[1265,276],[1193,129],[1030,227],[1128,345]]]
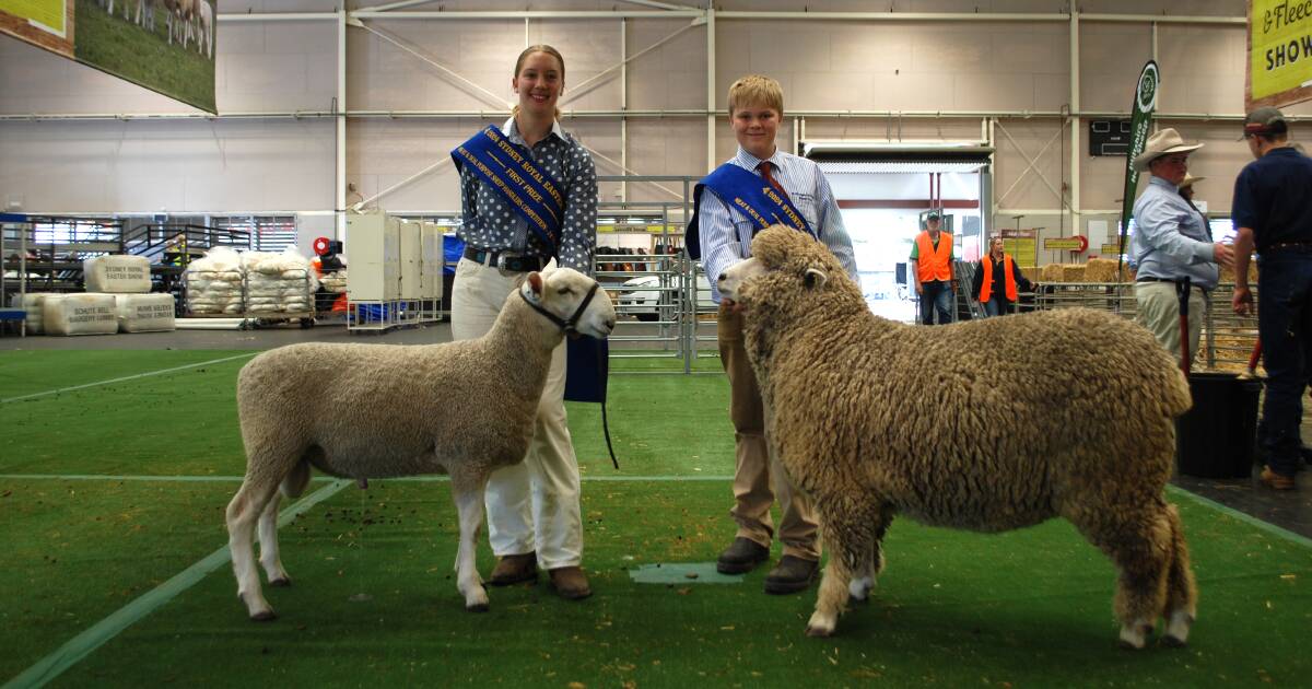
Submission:
[[[307,343],[260,354],[237,377],[247,451],[241,488],[228,504],[228,547],[237,595],[252,619],[272,619],[252,558],[272,585],[290,579],[278,556],[281,492],[299,496],[310,467],[370,479],[449,474],[461,520],[457,588],[470,610],[488,605],[474,567],[488,475],[523,461],[564,335],[606,337],[615,308],[592,278],[560,268],[530,273],[476,340],[400,346]]]

